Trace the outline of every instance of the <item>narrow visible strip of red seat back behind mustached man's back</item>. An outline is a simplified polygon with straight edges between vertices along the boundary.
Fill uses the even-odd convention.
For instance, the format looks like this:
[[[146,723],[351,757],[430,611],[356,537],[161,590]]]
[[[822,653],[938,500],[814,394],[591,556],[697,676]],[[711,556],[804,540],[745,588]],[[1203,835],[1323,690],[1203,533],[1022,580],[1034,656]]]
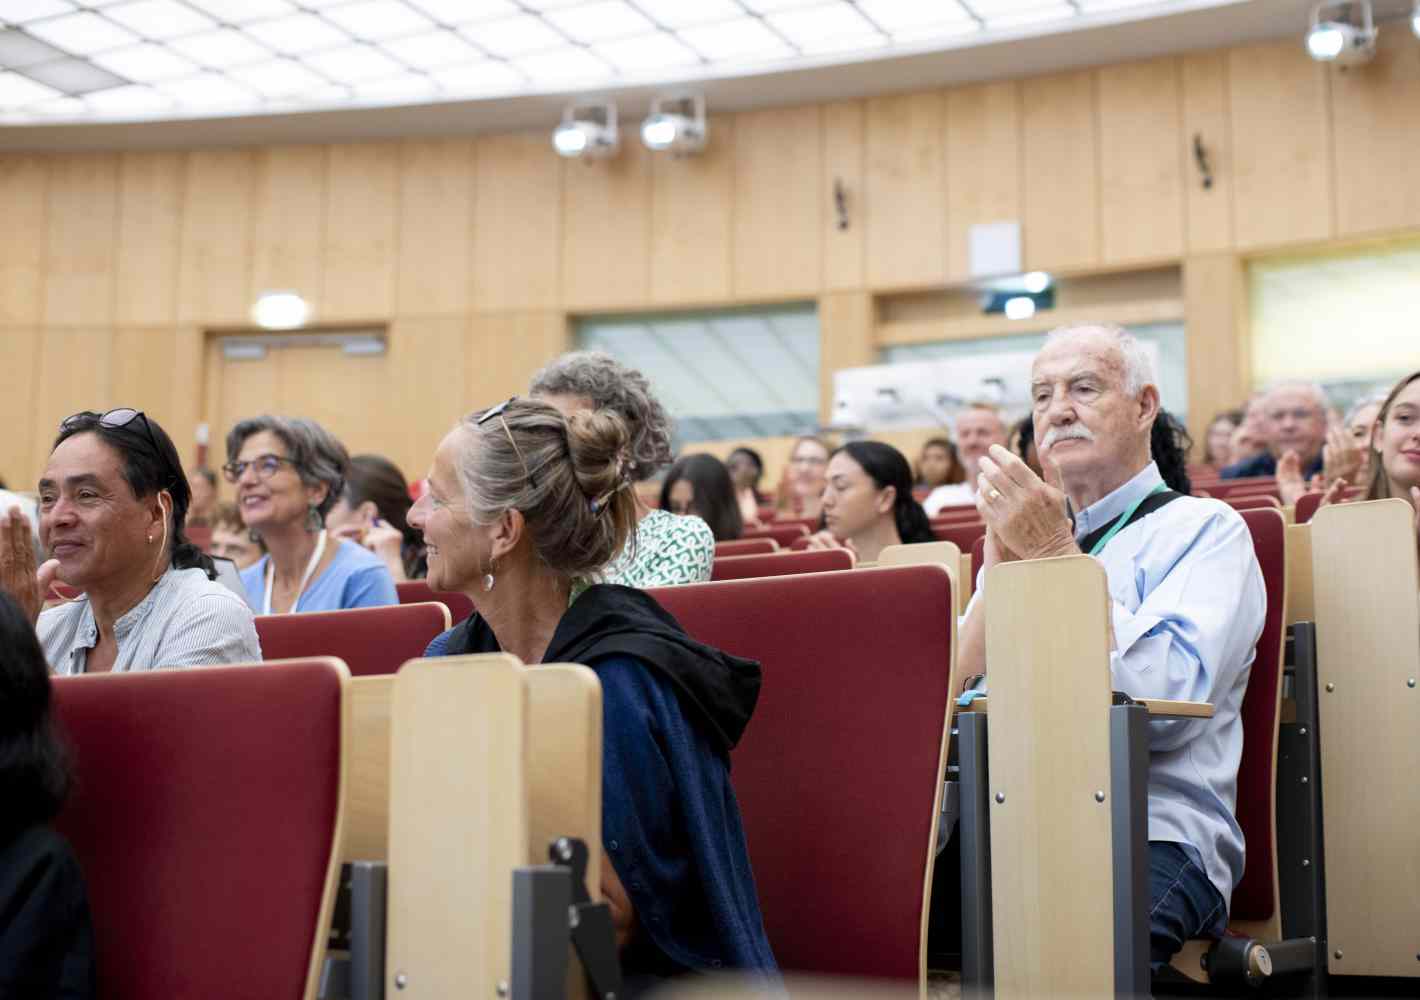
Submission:
[[[1247,839],[1242,881],[1233,891],[1234,920],[1267,920],[1277,901],[1272,831],[1277,822],[1274,757],[1277,753],[1278,689],[1282,683],[1287,588],[1285,526],[1277,510],[1240,511],[1252,533],[1252,550],[1267,585],[1267,618],[1242,696],[1242,760],[1238,764],[1237,818]]]

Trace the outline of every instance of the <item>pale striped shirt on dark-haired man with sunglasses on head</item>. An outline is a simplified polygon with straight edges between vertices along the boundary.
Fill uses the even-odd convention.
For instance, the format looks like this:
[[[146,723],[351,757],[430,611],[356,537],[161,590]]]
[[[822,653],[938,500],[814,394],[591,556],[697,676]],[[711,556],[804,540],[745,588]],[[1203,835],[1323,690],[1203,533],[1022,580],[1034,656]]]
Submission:
[[[84,673],[98,625],[87,597],[50,608],[36,626],[57,675]],[[261,659],[251,608],[202,570],[169,570],[114,622],[114,672],[213,666]]]

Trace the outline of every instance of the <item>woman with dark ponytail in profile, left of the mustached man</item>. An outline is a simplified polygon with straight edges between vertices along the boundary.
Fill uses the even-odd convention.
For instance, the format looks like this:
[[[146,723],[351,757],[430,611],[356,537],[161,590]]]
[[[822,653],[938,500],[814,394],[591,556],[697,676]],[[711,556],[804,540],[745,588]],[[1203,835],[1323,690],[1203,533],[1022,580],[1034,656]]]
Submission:
[[[927,511],[912,497],[912,467],[892,445],[855,440],[828,460],[824,487],[826,531],[814,548],[851,548],[862,562],[876,562],[888,545],[932,541]]]

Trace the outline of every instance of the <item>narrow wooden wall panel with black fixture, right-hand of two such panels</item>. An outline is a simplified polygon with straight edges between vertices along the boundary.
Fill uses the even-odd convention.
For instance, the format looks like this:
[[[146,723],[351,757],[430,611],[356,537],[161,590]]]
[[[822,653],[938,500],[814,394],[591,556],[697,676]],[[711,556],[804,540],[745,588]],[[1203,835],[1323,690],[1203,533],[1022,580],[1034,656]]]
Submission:
[[[1189,253],[1233,246],[1233,128],[1228,118],[1227,53],[1190,53],[1180,60],[1183,81],[1184,241]],[[1203,141],[1213,185],[1203,186],[1193,138]]]

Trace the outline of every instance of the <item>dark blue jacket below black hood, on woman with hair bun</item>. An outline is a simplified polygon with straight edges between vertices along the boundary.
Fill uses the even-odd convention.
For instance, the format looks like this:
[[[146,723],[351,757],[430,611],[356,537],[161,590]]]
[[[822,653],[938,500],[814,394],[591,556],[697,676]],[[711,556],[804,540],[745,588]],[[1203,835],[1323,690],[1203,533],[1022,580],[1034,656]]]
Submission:
[[[459,629],[425,656],[459,652]],[[602,844],[640,935],[625,973],[774,974],[727,753],[687,719],[666,672],[622,653],[588,659],[602,683]]]

